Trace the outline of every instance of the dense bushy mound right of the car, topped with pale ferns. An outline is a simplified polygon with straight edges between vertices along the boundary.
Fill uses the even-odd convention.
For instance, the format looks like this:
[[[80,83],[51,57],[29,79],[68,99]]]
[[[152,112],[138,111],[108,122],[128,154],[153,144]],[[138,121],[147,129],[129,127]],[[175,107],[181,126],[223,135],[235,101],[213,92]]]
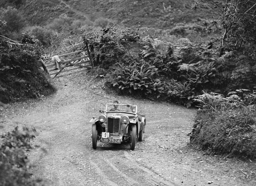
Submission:
[[[198,96],[201,109],[195,117],[190,144],[215,154],[256,158],[256,107],[244,104],[248,99],[239,99],[234,94],[227,98],[214,93]]]

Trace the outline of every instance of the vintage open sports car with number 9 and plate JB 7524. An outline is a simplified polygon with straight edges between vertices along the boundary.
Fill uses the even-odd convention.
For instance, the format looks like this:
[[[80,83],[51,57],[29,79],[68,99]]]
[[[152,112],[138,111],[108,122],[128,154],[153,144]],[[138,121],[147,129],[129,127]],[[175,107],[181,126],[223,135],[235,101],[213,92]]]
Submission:
[[[137,115],[137,105],[106,104],[99,118],[90,120],[92,124],[93,148],[97,141],[103,143],[129,142],[134,150],[137,141],[144,140],[145,116]]]

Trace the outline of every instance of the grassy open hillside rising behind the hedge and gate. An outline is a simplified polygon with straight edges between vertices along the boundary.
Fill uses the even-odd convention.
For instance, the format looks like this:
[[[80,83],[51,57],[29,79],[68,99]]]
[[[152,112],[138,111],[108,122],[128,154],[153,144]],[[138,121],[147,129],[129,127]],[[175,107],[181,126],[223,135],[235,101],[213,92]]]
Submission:
[[[79,27],[83,31],[102,24],[116,23],[118,26],[148,31],[151,35],[186,37],[195,32],[197,36],[205,36],[202,24],[208,20],[218,19],[215,3],[210,0],[160,2],[22,0],[16,2],[18,3],[12,3],[11,6],[19,10],[25,21],[26,26],[23,30],[28,30],[26,27],[29,26],[42,26],[60,32],[68,26],[59,28],[53,24],[61,22],[59,19],[65,17],[65,23],[69,23],[74,29]],[[1,6],[7,7],[7,5],[10,4],[3,2]]]

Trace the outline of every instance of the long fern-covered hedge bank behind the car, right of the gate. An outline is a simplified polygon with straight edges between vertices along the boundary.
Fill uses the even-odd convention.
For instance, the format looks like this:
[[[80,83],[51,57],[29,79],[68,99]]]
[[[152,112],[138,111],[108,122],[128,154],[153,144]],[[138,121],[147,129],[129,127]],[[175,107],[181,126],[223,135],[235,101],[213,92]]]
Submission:
[[[202,91],[227,93],[256,86],[255,61],[234,52],[219,57],[218,48],[212,46],[175,48],[160,39],[113,27],[84,35],[84,43],[90,47],[95,66],[113,67],[107,81],[120,93],[191,107],[198,104],[194,98]]]

